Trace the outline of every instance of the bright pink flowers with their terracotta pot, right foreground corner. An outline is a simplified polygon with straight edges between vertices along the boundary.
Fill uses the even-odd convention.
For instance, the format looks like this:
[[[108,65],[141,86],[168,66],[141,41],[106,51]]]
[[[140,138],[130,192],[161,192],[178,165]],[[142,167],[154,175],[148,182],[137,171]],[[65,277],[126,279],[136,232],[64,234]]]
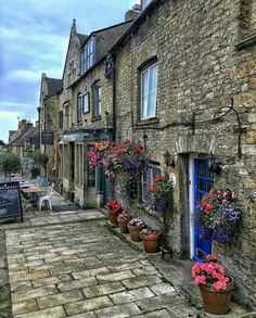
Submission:
[[[193,265],[193,280],[200,287],[205,309],[212,314],[226,314],[230,306],[233,280],[226,276],[217,256],[207,255],[205,260]]]

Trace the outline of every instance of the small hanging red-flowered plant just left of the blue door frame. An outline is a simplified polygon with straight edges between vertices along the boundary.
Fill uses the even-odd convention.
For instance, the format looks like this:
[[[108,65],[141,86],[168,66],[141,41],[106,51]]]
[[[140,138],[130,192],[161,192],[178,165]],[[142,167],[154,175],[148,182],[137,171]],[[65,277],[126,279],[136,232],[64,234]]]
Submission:
[[[168,176],[156,176],[151,182],[152,185],[149,187],[150,205],[156,212],[167,212],[172,200],[172,182]]]

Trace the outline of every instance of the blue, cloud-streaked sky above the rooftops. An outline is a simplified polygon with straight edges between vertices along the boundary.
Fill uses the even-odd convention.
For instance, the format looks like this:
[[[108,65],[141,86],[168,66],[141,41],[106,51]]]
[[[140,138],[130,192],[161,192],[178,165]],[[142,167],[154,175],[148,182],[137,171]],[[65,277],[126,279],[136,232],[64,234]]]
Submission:
[[[139,0],[4,0],[0,5],[0,140],[37,119],[41,73],[62,78],[73,18],[90,34],[125,18]],[[1,1],[0,1],[1,3]],[[3,4],[3,2],[2,2]]]

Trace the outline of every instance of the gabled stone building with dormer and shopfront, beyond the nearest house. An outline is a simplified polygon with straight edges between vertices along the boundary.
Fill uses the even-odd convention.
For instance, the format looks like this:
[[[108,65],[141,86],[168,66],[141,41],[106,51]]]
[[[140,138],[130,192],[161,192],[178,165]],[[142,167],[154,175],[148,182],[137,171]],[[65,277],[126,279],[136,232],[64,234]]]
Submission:
[[[105,175],[89,169],[87,152],[93,141],[113,139],[113,86],[105,78],[104,60],[133,15],[129,12],[129,21],[89,36],[76,31],[75,21],[72,26],[59,101],[61,176],[63,193],[84,207],[108,200]]]

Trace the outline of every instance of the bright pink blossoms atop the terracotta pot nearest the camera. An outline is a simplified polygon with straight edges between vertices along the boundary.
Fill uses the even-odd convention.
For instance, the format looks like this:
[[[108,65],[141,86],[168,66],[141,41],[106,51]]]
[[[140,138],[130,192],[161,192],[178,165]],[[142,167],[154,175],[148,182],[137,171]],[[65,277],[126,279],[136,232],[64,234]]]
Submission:
[[[192,277],[196,284],[213,287],[215,290],[226,290],[230,278],[226,276],[223,266],[218,257],[207,255],[205,263],[196,262],[192,267]]]

